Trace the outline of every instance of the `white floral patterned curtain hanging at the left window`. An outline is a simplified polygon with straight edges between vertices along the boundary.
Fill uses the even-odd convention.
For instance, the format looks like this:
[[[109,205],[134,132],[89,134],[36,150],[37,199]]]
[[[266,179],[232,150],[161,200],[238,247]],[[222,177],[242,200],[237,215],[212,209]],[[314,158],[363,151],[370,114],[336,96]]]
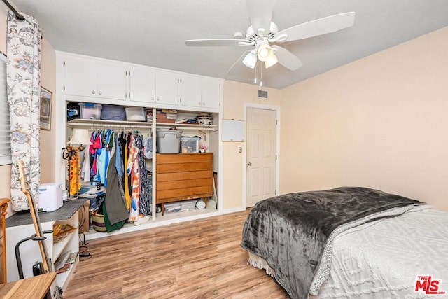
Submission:
[[[22,193],[18,161],[24,162],[25,176],[31,196],[38,204],[41,183],[39,162],[39,94],[41,85],[41,29],[37,20],[23,15],[15,19],[8,13],[8,62],[6,83],[10,107],[11,127],[11,203],[14,211],[29,209],[27,197]]]

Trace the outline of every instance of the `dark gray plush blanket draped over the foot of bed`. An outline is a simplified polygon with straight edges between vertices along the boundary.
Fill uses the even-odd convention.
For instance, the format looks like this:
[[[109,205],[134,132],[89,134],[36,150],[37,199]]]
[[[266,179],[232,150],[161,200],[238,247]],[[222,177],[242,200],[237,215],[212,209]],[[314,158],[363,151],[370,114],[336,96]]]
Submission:
[[[421,202],[360,187],[280,195],[255,204],[244,223],[241,246],[267,261],[291,298],[308,298],[336,228],[416,204]]]

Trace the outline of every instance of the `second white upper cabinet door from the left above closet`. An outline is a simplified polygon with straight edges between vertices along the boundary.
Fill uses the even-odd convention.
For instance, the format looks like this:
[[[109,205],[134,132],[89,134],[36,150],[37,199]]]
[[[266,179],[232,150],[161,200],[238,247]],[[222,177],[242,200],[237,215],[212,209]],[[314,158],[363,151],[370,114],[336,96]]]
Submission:
[[[97,96],[126,99],[126,69],[120,64],[97,64]]]

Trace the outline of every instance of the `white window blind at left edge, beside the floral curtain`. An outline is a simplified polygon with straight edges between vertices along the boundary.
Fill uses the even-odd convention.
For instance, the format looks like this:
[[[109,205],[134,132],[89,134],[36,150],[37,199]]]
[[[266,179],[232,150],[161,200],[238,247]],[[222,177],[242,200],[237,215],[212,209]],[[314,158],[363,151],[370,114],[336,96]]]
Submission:
[[[10,118],[6,92],[6,55],[0,52],[0,165],[11,163]]]

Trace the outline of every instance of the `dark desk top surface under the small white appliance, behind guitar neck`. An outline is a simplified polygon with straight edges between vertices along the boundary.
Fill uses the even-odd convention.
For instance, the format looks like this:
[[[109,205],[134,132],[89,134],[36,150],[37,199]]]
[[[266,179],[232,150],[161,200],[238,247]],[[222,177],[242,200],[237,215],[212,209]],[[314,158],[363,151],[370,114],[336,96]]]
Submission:
[[[68,200],[56,211],[39,213],[39,219],[41,222],[69,220],[73,214],[78,212],[80,207],[83,207],[86,200],[88,199],[84,197],[80,197],[76,200]],[[7,228],[28,224],[33,224],[33,219],[31,218],[31,213],[29,213],[29,211],[20,211],[13,216],[6,218]]]

